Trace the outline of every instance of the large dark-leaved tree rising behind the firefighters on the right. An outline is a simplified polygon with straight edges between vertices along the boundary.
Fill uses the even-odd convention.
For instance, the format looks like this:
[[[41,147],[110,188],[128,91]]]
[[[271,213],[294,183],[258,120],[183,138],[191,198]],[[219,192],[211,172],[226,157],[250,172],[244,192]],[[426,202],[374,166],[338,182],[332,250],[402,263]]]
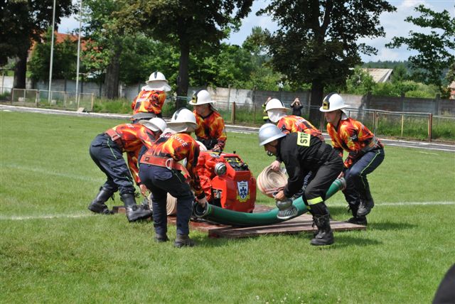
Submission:
[[[360,53],[377,53],[357,41],[384,36],[379,16],[385,11],[395,7],[383,0],[273,0],[257,14],[269,14],[279,26],[269,39],[274,69],[292,82],[311,83],[311,105],[319,106],[324,87],[344,85]]]

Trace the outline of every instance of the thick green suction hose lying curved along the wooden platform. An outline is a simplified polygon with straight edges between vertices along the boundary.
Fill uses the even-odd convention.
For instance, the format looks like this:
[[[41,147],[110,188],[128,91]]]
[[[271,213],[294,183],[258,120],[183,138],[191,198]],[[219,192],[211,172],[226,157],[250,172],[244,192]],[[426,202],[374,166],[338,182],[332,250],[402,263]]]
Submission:
[[[326,192],[326,200],[333,196],[338,190],[343,189],[345,186],[346,181],[344,178],[336,179]],[[302,197],[294,200],[292,205],[297,209],[295,217],[303,215],[308,211]],[[268,212],[247,213],[223,209],[210,204],[205,204],[205,207],[201,207],[199,204],[193,205],[193,215],[196,215],[196,217],[200,219],[207,219],[211,222],[238,227],[266,226],[269,224],[284,222],[292,218],[279,219],[277,217],[278,212],[278,208],[274,208]]]

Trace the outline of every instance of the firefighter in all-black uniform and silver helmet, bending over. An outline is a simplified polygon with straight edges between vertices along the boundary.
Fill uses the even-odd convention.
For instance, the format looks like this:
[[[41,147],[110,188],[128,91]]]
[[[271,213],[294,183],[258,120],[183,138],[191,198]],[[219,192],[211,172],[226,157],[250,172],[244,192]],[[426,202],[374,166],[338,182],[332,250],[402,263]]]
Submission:
[[[304,132],[284,134],[274,124],[264,124],[259,129],[259,146],[267,153],[279,156],[286,165],[289,178],[276,200],[286,200],[299,192],[306,174],[311,170],[314,178],[306,186],[302,198],[313,215],[318,232],[311,245],[333,244],[330,215],[324,203],[326,192],[343,170],[343,160],[338,153],[317,136]]]

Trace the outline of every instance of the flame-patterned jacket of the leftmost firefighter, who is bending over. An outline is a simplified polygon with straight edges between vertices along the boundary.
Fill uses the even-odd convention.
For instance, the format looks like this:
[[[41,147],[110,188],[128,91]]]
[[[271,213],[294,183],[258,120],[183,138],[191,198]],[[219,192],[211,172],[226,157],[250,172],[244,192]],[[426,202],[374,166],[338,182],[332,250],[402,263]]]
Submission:
[[[139,157],[139,152],[143,145],[146,146],[146,148],[151,147],[151,144],[155,141],[154,133],[142,124],[119,124],[112,129],[108,129],[105,133],[111,136],[113,140],[116,137],[118,138],[114,142],[121,148],[122,153],[127,153],[129,170],[131,171],[134,180],[139,185],[141,180],[139,179],[137,158]]]

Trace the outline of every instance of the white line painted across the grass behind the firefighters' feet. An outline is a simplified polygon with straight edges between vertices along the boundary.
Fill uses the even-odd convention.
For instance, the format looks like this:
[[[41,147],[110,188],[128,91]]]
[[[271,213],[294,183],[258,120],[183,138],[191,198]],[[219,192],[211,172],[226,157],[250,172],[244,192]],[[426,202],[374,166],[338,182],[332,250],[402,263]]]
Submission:
[[[336,202],[335,204],[331,204],[327,202],[328,207],[330,206],[345,206],[341,202]],[[395,207],[395,206],[434,206],[434,205],[455,205],[455,202],[380,202],[375,205],[376,206],[387,206],[387,207]],[[23,221],[26,219],[77,219],[80,217],[92,217],[94,215],[87,214],[87,213],[80,213],[76,215],[28,215],[28,216],[11,216],[5,217],[0,216],[0,220],[5,221]]]

